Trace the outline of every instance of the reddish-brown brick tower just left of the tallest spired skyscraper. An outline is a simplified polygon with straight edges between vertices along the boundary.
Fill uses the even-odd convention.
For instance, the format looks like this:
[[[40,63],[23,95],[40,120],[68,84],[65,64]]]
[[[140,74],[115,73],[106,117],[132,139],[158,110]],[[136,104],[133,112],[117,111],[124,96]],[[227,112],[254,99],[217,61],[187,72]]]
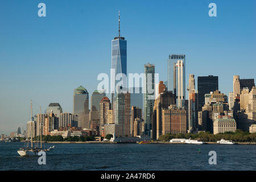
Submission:
[[[111,109],[111,103],[108,97],[103,97],[100,102],[100,126],[108,124],[108,112]]]

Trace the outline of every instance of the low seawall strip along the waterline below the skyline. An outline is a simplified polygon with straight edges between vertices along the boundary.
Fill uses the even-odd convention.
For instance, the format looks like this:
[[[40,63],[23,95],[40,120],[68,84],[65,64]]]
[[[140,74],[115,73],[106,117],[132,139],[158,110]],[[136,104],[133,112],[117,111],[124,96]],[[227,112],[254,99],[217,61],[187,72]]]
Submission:
[[[26,142],[24,140],[20,141],[20,142]],[[34,143],[40,143],[40,141],[34,141]],[[86,142],[42,142],[42,143],[104,143],[104,144],[108,144],[108,143],[118,143],[118,142],[102,142],[102,141],[86,141]],[[127,142],[122,142],[122,143],[126,143]],[[138,144],[138,142],[137,142]],[[171,143],[171,142],[150,142],[149,144],[185,144],[185,143]],[[205,144],[217,144],[217,142],[205,142]],[[236,144],[242,144],[242,145],[255,145],[256,142],[236,142]]]

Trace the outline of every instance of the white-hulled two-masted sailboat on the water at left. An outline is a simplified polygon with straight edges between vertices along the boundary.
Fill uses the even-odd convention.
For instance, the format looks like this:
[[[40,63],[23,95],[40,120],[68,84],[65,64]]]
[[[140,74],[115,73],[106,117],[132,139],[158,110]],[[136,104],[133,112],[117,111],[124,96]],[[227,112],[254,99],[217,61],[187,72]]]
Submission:
[[[41,107],[40,107],[40,114],[41,114]],[[32,100],[31,100],[31,147],[20,147],[19,150],[17,151],[20,156],[30,156],[30,155],[38,155],[38,152],[47,152],[55,148],[55,146],[49,147],[48,149],[43,149],[42,148],[42,125],[41,122],[39,123],[40,125],[40,144],[41,147],[33,147],[33,117],[32,117]]]

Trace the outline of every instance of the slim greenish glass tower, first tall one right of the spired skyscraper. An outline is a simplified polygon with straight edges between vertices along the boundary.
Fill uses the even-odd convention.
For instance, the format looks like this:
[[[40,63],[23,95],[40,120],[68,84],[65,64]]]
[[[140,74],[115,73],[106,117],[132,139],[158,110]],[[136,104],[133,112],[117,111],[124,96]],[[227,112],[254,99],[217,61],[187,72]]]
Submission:
[[[152,110],[155,101],[155,65],[144,64],[144,122],[145,131],[150,135],[152,129]]]

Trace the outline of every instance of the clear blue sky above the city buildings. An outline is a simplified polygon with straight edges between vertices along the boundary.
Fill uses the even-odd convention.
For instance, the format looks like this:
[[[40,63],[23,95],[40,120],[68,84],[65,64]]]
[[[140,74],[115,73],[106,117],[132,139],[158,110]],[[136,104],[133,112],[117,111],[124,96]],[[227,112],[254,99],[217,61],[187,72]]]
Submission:
[[[46,17],[38,4],[46,3]],[[208,15],[209,3],[217,17]],[[24,127],[50,102],[72,112],[73,89],[97,89],[99,73],[110,73],[111,40],[127,40],[127,73],[155,64],[167,80],[169,54],[186,55],[188,74],[219,77],[233,90],[233,75],[256,78],[256,1],[0,1],[0,134]],[[197,82],[197,80],[196,80]]]

